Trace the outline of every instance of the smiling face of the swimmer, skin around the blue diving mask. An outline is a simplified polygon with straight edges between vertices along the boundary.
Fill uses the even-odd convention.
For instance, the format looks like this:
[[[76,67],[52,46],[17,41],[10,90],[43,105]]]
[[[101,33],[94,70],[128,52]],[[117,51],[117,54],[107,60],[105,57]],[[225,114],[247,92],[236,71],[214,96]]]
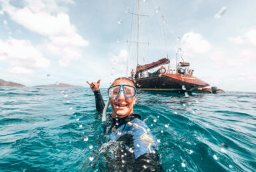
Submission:
[[[118,84],[127,84],[127,85],[134,86],[134,83],[132,83],[132,81],[129,81],[128,79],[118,79],[114,81],[114,83],[112,83],[112,85],[118,85]],[[132,98],[127,98],[124,95],[123,91],[121,91],[118,98],[109,99],[109,100],[112,107],[113,118],[124,118],[134,112],[133,107],[136,102],[136,96]]]

